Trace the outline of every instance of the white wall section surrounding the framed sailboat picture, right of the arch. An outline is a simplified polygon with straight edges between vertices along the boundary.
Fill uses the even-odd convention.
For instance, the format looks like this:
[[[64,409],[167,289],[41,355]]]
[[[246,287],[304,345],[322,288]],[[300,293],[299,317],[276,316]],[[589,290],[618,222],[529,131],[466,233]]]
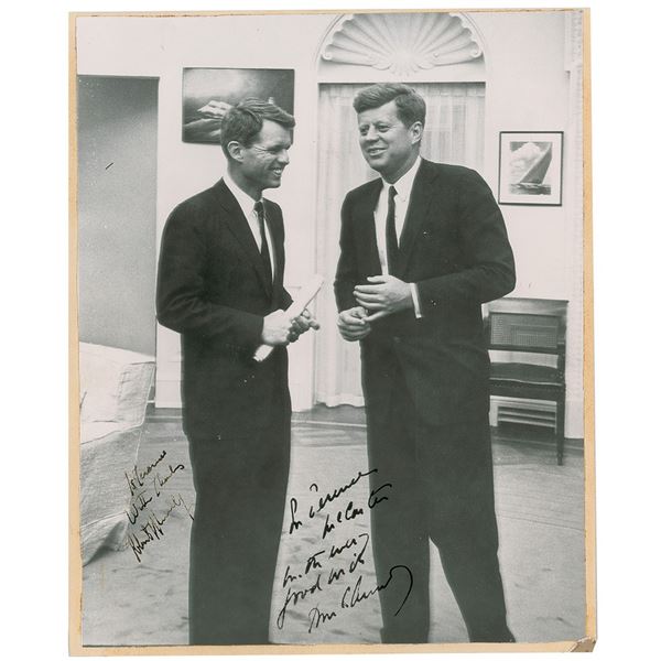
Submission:
[[[500,131],[567,129],[564,14],[486,12],[475,20],[487,44],[484,174],[496,191]],[[565,205],[503,205],[501,210],[517,256],[513,295],[567,299]]]

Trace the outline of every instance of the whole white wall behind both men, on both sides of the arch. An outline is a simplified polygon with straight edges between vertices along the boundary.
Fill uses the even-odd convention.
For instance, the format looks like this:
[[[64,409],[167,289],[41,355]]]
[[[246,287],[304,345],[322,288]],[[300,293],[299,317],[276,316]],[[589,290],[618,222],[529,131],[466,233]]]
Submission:
[[[219,148],[181,140],[182,69],[184,67],[294,68],[295,142],[281,189],[268,196],[283,207],[290,288],[302,284],[315,264],[316,109],[318,48],[337,20],[334,14],[204,18],[79,18],[79,74],[158,76],[159,195],[158,227],[182,199],[219,178],[225,161]],[[566,131],[568,76],[564,68],[564,12],[474,12],[469,18],[484,40],[487,88],[485,176],[496,191],[500,131]],[[361,67],[345,66],[325,79],[355,76]],[[427,82],[448,79],[449,69],[423,74]],[[422,75],[422,74],[421,74]],[[383,74],[373,78],[383,79]],[[452,78],[452,76],[451,76]],[[354,82],[346,78],[345,82]],[[566,153],[566,152],[565,152]],[[571,299],[572,269],[567,241],[567,206],[503,206],[517,256],[514,295]],[[156,247],[154,247],[156,250]],[[325,329],[333,332],[334,329]],[[294,407],[312,403],[312,337],[292,347],[291,386]],[[160,403],[178,398],[178,340],[159,329]],[[572,416],[571,416],[572,418]],[[567,420],[567,435],[582,436],[582,411]]]

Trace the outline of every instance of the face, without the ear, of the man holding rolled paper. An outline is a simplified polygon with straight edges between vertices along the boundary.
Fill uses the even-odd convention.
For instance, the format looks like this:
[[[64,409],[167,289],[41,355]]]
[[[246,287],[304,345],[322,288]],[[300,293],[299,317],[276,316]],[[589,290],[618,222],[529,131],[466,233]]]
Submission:
[[[257,191],[278,188],[282,171],[289,164],[288,150],[292,136],[283,126],[264,120],[261,131],[250,147],[242,148],[241,175]]]

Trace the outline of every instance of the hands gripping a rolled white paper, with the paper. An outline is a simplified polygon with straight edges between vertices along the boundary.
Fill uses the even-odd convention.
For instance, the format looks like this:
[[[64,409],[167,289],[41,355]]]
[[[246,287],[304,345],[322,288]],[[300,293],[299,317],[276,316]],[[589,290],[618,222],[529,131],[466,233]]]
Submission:
[[[264,317],[263,344],[254,351],[253,360],[261,362],[271,355],[274,346],[295,342],[308,328],[316,330],[319,327],[306,307],[319,293],[323,282],[321,275],[315,275],[285,311],[277,310]]]

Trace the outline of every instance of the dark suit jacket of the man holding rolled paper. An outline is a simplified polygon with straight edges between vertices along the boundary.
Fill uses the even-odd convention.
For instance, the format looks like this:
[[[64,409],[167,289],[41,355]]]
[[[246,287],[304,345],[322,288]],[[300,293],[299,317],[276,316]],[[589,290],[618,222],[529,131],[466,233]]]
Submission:
[[[184,430],[245,435],[269,423],[271,407],[290,410],[286,349],[252,361],[263,317],[286,308],[280,207],[264,201],[277,272],[271,285],[235,196],[220,180],[167,218],[156,286],[159,322],[182,335]]]

